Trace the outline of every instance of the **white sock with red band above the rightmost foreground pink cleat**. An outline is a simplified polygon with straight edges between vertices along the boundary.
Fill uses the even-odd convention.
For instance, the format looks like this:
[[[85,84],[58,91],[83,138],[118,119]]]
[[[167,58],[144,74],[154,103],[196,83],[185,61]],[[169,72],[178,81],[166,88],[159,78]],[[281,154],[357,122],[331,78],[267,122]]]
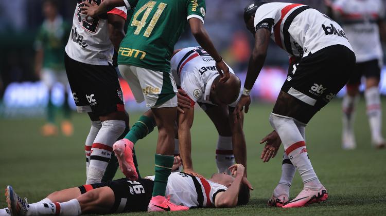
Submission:
[[[322,184],[308,158],[306,143],[293,119],[271,114],[270,123],[282,139],[286,153],[302,177],[304,187],[318,190]]]

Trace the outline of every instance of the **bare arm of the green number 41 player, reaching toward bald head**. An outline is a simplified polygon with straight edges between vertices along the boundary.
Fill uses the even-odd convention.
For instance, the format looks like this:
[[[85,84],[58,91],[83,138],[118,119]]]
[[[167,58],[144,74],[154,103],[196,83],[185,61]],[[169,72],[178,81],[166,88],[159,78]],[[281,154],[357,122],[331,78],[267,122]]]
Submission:
[[[222,74],[220,81],[225,82],[228,80],[230,77],[229,68],[210,40],[210,37],[204,28],[204,24],[199,18],[190,18],[189,25],[191,33],[196,38],[197,43],[216,61],[216,67],[219,70],[219,73]]]

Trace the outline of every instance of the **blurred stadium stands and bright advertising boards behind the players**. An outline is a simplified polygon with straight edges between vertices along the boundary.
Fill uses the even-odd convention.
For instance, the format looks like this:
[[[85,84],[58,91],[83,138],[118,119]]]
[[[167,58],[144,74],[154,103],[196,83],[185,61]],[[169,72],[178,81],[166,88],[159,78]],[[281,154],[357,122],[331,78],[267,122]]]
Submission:
[[[44,115],[48,103],[47,88],[39,82],[34,73],[34,42],[43,22],[42,0],[0,1],[0,115],[3,117],[27,117]],[[226,2],[226,4],[223,4]],[[207,14],[205,27],[224,60],[244,80],[249,60],[252,36],[242,20],[244,5],[249,0],[210,0],[206,1]],[[289,2],[289,1],[281,1]],[[293,3],[310,5],[324,12],[323,1],[294,0]],[[72,22],[76,1],[59,1],[59,13],[68,23]],[[272,42],[271,42],[272,43]],[[185,31],[176,49],[197,46],[189,30]],[[274,102],[287,73],[288,56],[274,46],[270,46],[266,65],[253,88],[255,99]],[[386,94],[386,70],[382,71],[380,88]],[[269,83],[269,87],[266,85]],[[143,110],[137,105],[128,85],[121,82],[129,111]],[[362,87],[363,88],[363,87]],[[60,83],[52,89],[52,103],[64,103],[63,91],[69,91]],[[342,95],[342,92],[338,95]],[[71,96],[71,94],[69,94]],[[73,108],[73,100],[69,100]]]

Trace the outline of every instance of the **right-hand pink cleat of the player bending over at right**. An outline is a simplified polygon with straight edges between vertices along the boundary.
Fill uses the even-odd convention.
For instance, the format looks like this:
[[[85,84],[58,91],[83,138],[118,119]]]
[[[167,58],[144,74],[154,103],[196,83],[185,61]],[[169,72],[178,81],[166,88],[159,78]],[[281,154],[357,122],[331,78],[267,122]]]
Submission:
[[[328,193],[326,188],[322,187],[320,190],[310,190],[304,188],[295,199],[287,202],[283,208],[297,208],[310,205],[312,203],[320,203],[326,201]]]

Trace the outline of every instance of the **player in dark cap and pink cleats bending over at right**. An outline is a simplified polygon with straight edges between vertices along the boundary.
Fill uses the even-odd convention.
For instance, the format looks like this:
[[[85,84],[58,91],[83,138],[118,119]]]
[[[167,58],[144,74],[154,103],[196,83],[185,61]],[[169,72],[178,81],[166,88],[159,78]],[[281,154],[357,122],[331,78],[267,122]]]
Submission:
[[[280,144],[279,139],[285,153],[282,178],[269,203],[291,208],[325,201],[327,190],[308,158],[305,127],[347,83],[355,64],[353,49],[335,21],[306,5],[252,1],[244,9],[244,21],[255,37],[255,46],[236,106],[238,113],[244,106],[248,112],[249,93],[264,65],[269,38],[291,56],[287,80],[270,115],[275,131],[269,136],[266,153],[272,155],[278,150],[273,144]],[[304,189],[287,202],[296,169]]]

